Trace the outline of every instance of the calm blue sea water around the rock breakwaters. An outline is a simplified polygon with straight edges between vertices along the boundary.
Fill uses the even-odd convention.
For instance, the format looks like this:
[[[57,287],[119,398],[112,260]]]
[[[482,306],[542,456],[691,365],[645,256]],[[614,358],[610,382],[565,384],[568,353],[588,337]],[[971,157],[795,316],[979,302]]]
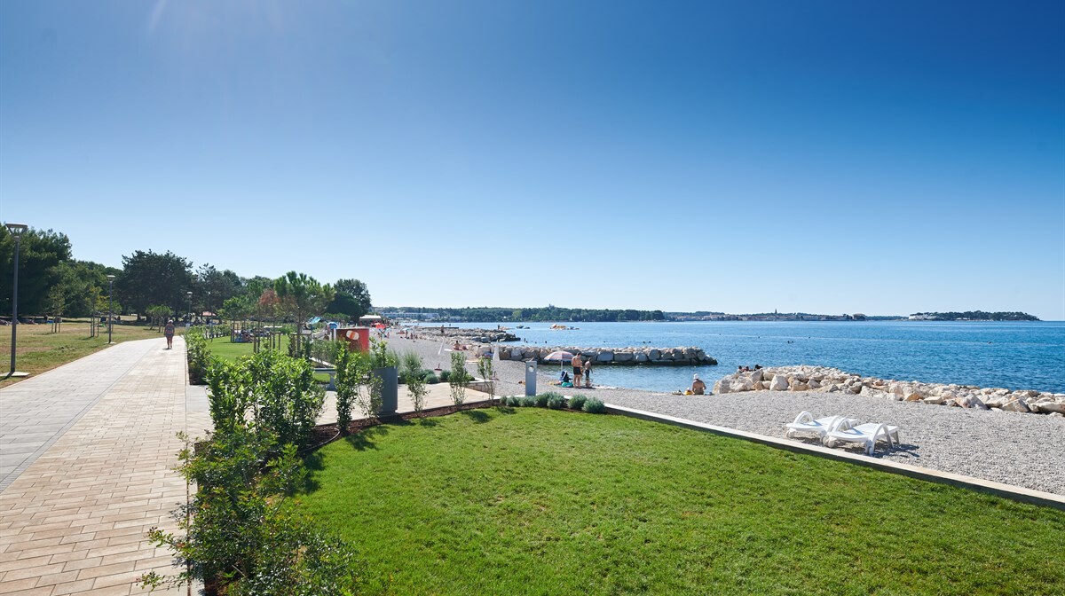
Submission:
[[[494,328],[496,324],[452,324]],[[597,384],[674,391],[737,366],[815,364],[882,379],[1065,393],[1065,322],[576,322],[513,329],[528,345],[698,346],[718,366],[595,368]]]

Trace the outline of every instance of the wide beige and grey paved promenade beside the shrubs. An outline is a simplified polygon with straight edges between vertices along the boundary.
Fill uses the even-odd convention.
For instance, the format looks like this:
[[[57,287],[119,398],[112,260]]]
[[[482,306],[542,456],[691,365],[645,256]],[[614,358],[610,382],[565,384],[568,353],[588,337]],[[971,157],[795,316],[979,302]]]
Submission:
[[[171,573],[145,533],[174,527],[175,435],[210,416],[186,399],[184,343],[164,346],[119,344],[0,390],[0,594],[141,594],[143,573]]]

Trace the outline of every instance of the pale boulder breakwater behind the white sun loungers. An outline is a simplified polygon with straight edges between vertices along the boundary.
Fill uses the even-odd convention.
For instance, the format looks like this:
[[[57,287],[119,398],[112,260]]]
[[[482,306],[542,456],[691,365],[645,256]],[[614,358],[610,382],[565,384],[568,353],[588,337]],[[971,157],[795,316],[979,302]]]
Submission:
[[[838,368],[822,366],[774,366],[751,372],[735,372],[723,377],[714,385],[716,394],[759,390],[861,394],[936,405],[1065,415],[1065,394],[1061,393],[892,381],[858,377]]]

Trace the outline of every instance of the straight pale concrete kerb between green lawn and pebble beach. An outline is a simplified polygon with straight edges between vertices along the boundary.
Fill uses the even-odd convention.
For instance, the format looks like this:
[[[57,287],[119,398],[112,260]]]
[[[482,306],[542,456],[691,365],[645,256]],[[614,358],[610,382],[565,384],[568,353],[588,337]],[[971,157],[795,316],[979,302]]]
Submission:
[[[733,438],[742,438],[744,441],[760,443],[763,445],[767,445],[769,447],[775,447],[777,449],[787,449],[788,451],[794,451],[797,453],[806,453],[809,456],[818,456],[830,460],[843,461],[852,464],[875,468],[890,474],[899,474],[902,476],[907,476],[910,478],[917,478],[919,480],[938,482],[940,484],[951,484],[953,486],[961,486],[963,489],[980,491],[982,493],[990,493],[993,495],[997,495],[999,497],[1004,497],[1016,501],[1035,503],[1065,511],[1065,496],[1055,495],[1053,493],[1033,491],[1031,489],[1025,489],[1022,486],[1013,486],[1011,484],[993,482],[990,480],[983,480],[981,478],[973,478],[971,476],[962,476],[961,474],[939,471],[937,469],[931,469],[927,467],[920,467],[910,464],[900,464],[897,462],[889,462],[885,460],[878,460],[875,458],[869,458],[866,456],[848,453],[846,451],[840,451],[838,449],[829,449],[828,447],[821,447],[818,445],[807,445],[805,443],[798,443],[785,438],[776,438],[773,436],[766,436],[764,434],[755,434],[753,432],[746,432],[742,430],[735,430],[726,427],[718,427],[714,425],[707,425],[704,423],[697,423],[694,420],[676,418],[673,416],[667,416],[665,414],[655,414],[653,412],[645,412],[643,410],[625,408],[623,405],[613,405],[611,403],[607,403],[606,411],[609,412],[610,414],[619,414],[622,416],[628,416],[630,418],[639,418],[641,420],[662,423],[675,427],[699,430],[703,432],[710,432],[722,436],[731,436]]]

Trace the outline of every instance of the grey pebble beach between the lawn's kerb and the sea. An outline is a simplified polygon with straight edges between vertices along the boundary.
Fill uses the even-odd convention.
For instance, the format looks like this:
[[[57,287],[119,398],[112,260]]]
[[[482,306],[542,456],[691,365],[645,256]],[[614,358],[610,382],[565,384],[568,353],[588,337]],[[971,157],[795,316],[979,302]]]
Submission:
[[[437,354],[439,342],[393,335],[390,347],[417,351],[426,368],[438,363],[450,368],[450,352]],[[473,365],[468,368],[476,371]],[[523,363],[499,362],[496,370],[497,395],[524,395],[524,385],[518,383],[525,378]],[[554,375],[541,374],[538,392],[559,391],[548,384],[554,379]],[[711,384],[709,379],[707,384]],[[842,414],[887,423],[899,427],[902,445],[890,450],[878,447],[875,458],[1065,495],[1065,418],[1061,417],[814,392],[677,396],[627,388],[567,388],[560,393],[584,393],[616,405],[769,436],[784,436],[784,425],[804,410],[815,416]],[[850,449],[863,452],[858,446]]]

